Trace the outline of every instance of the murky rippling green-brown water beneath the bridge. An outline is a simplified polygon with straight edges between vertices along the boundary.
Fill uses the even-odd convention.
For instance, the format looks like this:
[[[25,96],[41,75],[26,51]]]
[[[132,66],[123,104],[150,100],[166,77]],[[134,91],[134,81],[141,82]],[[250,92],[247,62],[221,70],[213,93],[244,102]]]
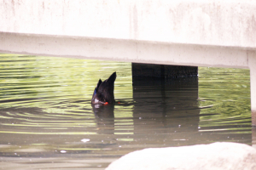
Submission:
[[[1,169],[104,169],[148,147],[252,144],[248,70],[132,80],[131,63],[0,57]],[[93,107],[98,79],[113,71],[119,104]]]

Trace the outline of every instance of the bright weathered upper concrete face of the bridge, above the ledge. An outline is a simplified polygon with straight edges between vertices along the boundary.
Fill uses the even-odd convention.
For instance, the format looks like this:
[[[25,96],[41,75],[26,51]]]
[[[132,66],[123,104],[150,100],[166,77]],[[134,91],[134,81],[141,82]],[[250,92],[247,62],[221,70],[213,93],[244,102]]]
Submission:
[[[0,31],[255,48],[252,0],[0,0]]]

